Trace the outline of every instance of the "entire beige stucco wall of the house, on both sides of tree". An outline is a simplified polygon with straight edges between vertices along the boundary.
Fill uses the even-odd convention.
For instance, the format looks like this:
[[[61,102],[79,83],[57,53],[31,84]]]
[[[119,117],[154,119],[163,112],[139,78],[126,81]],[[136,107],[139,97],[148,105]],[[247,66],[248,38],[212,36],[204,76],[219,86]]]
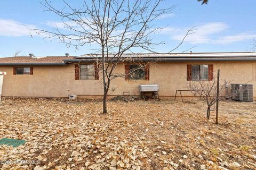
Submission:
[[[116,78],[111,82],[109,95],[139,95],[140,84],[159,84],[160,96],[173,98],[175,90],[186,89],[187,64],[213,64],[214,74],[220,69],[221,79],[231,83],[252,83],[256,97],[256,62],[159,62],[150,65],[149,81],[125,81]],[[12,66],[0,66],[7,72],[4,77],[2,96],[18,97],[99,97],[103,94],[99,80],[75,80],[74,65],[33,66],[33,75],[13,75]],[[116,67],[116,72],[124,73],[124,64]],[[100,77],[101,79],[101,77]],[[184,93],[185,96],[191,94]]]

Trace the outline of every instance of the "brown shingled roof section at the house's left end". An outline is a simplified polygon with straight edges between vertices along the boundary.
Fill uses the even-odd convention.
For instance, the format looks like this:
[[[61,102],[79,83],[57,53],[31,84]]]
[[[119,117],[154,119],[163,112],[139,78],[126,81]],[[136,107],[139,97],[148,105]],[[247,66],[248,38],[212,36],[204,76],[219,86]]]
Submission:
[[[45,56],[45,57],[4,57],[0,58],[0,65],[66,65],[63,60],[73,59],[67,56]]]

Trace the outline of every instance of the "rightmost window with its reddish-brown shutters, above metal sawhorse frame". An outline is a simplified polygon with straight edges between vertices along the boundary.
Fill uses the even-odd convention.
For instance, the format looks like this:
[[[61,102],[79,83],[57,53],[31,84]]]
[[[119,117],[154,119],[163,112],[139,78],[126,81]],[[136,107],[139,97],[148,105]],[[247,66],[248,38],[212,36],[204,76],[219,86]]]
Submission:
[[[187,65],[187,80],[213,80],[213,64]]]

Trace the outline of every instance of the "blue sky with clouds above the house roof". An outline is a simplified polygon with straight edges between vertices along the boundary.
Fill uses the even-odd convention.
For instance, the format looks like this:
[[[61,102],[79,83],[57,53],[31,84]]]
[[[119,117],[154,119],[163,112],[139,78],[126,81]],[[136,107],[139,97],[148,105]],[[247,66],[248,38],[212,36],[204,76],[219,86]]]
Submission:
[[[83,55],[93,53],[89,45],[67,48],[57,39],[43,39],[40,36],[31,38],[28,27],[51,30],[49,23],[58,23],[60,19],[50,12],[44,12],[40,1],[2,1],[0,6],[0,57],[12,56],[21,50],[19,55],[59,56]],[[70,1],[77,5],[77,1]],[[62,1],[54,1],[61,6]],[[247,52],[256,39],[256,1],[210,0],[201,5],[196,0],[165,1],[163,6],[177,5],[171,15],[157,19],[156,25],[165,27],[155,40],[163,40],[165,45],[155,47],[157,52],[169,52],[177,46],[186,31],[191,27],[197,30],[185,39],[175,52],[188,48],[193,52]],[[47,24],[48,23],[48,24]]]

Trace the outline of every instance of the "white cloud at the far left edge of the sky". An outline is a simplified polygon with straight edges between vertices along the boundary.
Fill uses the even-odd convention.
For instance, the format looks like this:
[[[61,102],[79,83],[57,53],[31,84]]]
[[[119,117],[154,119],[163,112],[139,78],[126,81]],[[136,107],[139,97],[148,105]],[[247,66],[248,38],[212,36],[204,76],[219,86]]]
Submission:
[[[0,36],[5,37],[20,37],[20,36],[29,36],[29,29],[36,28],[35,25],[23,25],[20,22],[14,20],[4,20],[0,19]]]

